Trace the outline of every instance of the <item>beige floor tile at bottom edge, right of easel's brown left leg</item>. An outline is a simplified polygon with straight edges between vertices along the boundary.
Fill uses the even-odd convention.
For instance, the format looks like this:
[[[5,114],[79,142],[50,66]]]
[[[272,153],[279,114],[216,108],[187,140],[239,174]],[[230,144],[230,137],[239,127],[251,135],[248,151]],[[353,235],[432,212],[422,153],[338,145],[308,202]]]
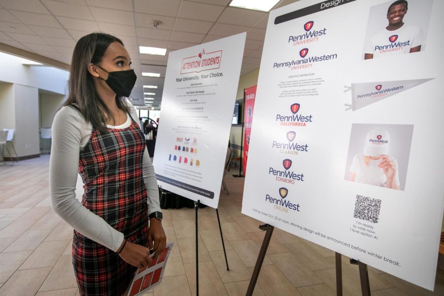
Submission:
[[[253,267],[249,268],[251,272],[253,272],[253,269]],[[259,272],[258,284],[267,296],[301,296],[275,265],[262,266]]]

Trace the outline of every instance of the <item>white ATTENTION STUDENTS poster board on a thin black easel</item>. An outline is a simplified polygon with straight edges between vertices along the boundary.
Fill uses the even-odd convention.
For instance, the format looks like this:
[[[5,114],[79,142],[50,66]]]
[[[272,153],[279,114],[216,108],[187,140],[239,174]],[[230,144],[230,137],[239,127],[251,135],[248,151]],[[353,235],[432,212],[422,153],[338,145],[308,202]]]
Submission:
[[[213,208],[221,192],[245,38],[241,33],[168,57],[153,159],[157,181]]]

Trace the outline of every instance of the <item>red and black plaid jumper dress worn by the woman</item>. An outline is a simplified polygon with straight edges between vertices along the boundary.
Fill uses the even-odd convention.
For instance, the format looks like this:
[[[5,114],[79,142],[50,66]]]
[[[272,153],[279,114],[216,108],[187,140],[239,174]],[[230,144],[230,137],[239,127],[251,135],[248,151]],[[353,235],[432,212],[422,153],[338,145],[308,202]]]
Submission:
[[[147,191],[142,163],[144,134],[131,118],[123,129],[93,129],[80,150],[82,204],[122,232],[132,243],[148,245]],[[74,230],[73,265],[81,295],[121,296],[136,267],[118,254]]]

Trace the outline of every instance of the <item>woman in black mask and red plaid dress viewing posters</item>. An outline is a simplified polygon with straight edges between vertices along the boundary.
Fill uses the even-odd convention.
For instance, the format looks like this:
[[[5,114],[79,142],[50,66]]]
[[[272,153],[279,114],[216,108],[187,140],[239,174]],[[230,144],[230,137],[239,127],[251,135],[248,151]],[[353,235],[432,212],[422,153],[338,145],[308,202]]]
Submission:
[[[145,137],[125,100],[136,74],[120,39],[103,33],[75,45],[69,96],[53,122],[50,194],[74,227],[81,295],[121,296],[136,269],[165,248],[159,195]],[[84,193],[75,198],[77,171]],[[149,227],[148,227],[149,220]]]

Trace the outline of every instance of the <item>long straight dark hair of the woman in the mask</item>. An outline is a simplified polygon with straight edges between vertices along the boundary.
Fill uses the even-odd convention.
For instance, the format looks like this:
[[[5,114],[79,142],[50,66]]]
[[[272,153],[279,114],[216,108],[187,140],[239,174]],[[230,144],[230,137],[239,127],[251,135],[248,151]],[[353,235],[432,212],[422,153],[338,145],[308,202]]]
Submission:
[[[99,64],[112,42],[119,42],[123,46],[122,40],[105,33],[91,33],[77,41],[68,81],[68,100],[64,104],[69,106],[75,103],[86,122],[101,132],[107,131],[106,122],[114,121],[114,116],[97,94],[88,66],[90,63]],[[123,97],[115,97],[117,107],[127,113],[129,109],[123,104],[124,100]]]

